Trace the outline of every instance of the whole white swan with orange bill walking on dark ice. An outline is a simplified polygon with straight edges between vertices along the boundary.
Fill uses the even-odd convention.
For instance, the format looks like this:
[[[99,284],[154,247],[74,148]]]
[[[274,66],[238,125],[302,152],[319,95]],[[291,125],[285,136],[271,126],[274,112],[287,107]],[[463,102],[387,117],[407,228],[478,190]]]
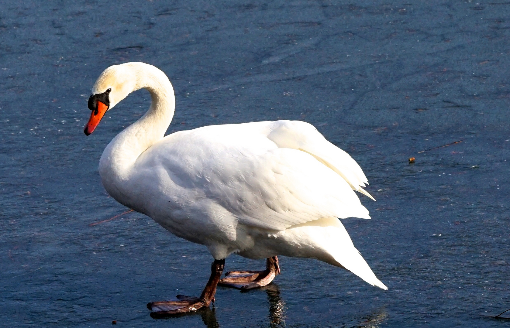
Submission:
[[[164,136],[175,98],[168,77],[144,63],[107,68],[89,99],[90,134],[106,111],[145,88],[152,103],[119,133],[99,161],[108,193],[150,216],[173,234],[208,247],[214,262],[199,298],[149,303],[153,315],[209,306],[218,282],[236,288],[267,285],[279,274],[277,255],[307,257],[344,267],[371,285],[380,282],[354,248],[338,218],[370,218],[354,194],[363,171],[312,125],[300,121],[205,126]],[[372,198],[373,199],[373,198]],[[228,272],[237,253],[267,258],[266,270]]]

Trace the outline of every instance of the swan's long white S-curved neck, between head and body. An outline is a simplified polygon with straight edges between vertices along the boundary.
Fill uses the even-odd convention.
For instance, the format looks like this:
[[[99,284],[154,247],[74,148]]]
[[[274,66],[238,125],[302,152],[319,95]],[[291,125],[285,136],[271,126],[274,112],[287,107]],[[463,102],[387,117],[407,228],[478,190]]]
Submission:
[[[147,113],[120,132],[101,155],[99,174],[110,194],[117,194],[115,189],[119,189],[119,183],[129,179],[138,156],[163,139],[175,108],[172,85],[162,71],[153,66],[134,69],[133,91],[147,89],[152,102]]]

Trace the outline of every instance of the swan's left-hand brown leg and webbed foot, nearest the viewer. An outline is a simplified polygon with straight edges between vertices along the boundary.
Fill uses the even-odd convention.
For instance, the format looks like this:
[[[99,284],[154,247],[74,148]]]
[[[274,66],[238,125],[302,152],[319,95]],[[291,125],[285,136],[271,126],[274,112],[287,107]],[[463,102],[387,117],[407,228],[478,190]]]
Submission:
[[[198,310],[202,307],[208,307],[214,302],[214,294],[216,286],[223,273],[225,260],[214,260],[211,265],[211,277],[207,282],[206,288],[203,289],[200,297],[177,295],[175,300],[167,300],[163,302],[150,302],[147,308],[151,310],[150,316],[153,318],[164,317],[173,314],[190,312]]]

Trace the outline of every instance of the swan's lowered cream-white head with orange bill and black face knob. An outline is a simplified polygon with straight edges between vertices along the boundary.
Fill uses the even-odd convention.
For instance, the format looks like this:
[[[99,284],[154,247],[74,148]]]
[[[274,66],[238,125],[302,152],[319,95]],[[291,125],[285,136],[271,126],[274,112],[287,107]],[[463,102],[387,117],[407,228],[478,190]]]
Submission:
[[[113,65],[99,75],[90,94],[88,107],[92,111],[84,132],[89,135],[105,113],[137,88],[134,63]]]

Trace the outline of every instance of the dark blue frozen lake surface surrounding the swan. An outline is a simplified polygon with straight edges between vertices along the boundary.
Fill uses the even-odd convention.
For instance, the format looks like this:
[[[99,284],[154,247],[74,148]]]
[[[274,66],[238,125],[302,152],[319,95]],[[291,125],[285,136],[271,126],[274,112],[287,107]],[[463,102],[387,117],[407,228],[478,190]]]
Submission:
[[[117,4],[116,4],[117,3]],[[12,1],[0,5],[0,323],[10,327],[508,327],[510,4],[359,1]],[[108,197],[108,142],[148,108],[138,91],[91,136],[90,89],[112,64],[170,77],[168,133],[303,120],[360,163],[372,220],[342,220],[388,287],[281,258],[263,290],[197,295],[205,247]],[[422,150],[462,140],[448,147]],[[416,157],[410,164],[409,157]],[[264,266],[233,255],[226,270]]]

